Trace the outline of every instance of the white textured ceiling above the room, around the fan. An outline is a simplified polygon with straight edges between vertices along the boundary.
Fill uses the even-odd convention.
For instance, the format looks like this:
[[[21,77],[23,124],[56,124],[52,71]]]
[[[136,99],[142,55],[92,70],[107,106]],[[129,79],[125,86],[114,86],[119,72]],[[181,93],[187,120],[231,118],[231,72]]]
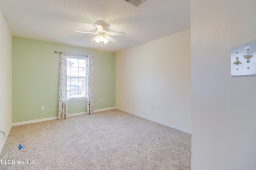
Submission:
[[[190,0],[146,0],[133,6],[125,0],[0,0],[0,10],[14,36],[101,49],[94,24],[103,24],[116,43],[103,44],[117,52],[190,28]]]

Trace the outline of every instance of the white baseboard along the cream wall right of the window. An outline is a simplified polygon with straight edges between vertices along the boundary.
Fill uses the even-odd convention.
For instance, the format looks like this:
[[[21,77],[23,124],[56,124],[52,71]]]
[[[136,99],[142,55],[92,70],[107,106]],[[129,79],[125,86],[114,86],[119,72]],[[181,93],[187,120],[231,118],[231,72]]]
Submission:
[[[132,112],[132,111],[129,111],[129,110],[126,110],[126,109],[122,109],[122,108],[120,108],[120,107],[116,107],[116,109],[119,109],[119,110],[125,111],[125,112],[127,112],[127,113],[136,115],[136,116],[138,116],[138,117],[142,117],[142,118],[144,118],[144,119],[148,119],[148,120],[154,121],[154,122],[156,122],[156,123],[160,123],[160,124],[162,124],[162,125],[166,125],[166,126],[168,126],[168,127],[172,127],[172,128],[174,128],[174,129],[178,129],[178,130],[180,130],[180,131],[183,131],[183,132],[186,132],[186,133],[191,134],[191,130],[185,129],[185,128],[183,128],[183,127],[178,127],[178,126],[176,126],[176,125],[172,125],[172,124],[170,124],[170,123],[166,123],[166,122],[163,122],[163,121],[160,121],[160,120],[157,120],[157,119],[153,119],[153,118],[151,118],[151,117],[147,117],[147,116],[141,115],[141,114],[139,114],[139,113],[135,113],[135,112]]]

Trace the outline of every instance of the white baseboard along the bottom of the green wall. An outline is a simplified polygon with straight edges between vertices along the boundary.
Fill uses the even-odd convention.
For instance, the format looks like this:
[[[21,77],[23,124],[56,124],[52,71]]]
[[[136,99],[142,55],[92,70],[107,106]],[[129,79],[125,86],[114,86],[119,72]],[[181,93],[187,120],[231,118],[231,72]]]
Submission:
[[[104,108],[104,109],[94,110],[94,112],[105,111],[105,110],[110,110],[110,109],[115,109],[115,108],[116,107],[108,107],[108,108]],[[86,114],[86,111],[80,112],[80,113],[68,114],[68,117],[84,115],[84,114]],[[40,121],[55,120],[55,119],[58,119],[58,116],[47,117],[47,118],[43,118],[43,119],[29,120],[29,121],[21,121],[21,122],[17,122],[17,123],[12,123],[12,126],[25,125],[25,124],[29,124],[29,123],[36,123],[36,122],[40,122]]]

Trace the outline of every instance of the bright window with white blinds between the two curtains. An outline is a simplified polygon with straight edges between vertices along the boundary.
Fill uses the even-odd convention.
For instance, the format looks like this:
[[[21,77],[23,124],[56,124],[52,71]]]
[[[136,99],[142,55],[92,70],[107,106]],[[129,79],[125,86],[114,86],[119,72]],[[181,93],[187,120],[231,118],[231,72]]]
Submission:
[[[85,98],[86,59],[85,56],[68,55],[67,94],[68,99]]]

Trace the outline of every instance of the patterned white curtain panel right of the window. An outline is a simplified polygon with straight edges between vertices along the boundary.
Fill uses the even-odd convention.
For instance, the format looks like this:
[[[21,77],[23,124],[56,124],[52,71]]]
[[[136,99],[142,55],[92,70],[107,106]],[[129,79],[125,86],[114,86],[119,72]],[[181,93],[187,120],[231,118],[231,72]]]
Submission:
[[[92,67],[92,59],[91,55],[86,57],[86,114],[94,113],[93,109],[93,67]]]

